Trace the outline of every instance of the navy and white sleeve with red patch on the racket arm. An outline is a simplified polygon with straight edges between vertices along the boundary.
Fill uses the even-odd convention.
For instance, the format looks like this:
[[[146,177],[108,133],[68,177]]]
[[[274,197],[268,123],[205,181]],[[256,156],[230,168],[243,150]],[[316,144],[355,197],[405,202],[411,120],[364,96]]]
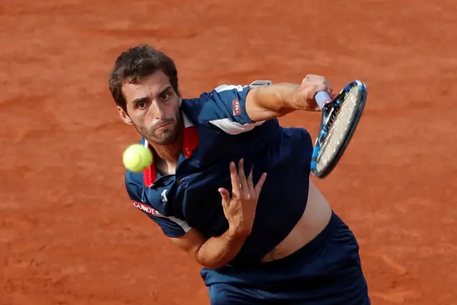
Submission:
[[[269,86],[271,81],[254,81],[249,86],[221,85],[214,88],[201,108],[201,117],[224,132],[237,135],[252,130],[264,121],[254,122],[246,113],[246,96],[256,86]]]

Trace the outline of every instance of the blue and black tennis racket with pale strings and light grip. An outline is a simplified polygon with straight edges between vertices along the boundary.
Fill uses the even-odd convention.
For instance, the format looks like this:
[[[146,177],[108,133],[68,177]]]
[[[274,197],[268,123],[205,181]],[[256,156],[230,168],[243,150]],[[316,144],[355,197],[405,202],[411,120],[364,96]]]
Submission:
[[[333,100],[325,91],[315,95],[322,110],[311,157],[311,173],[315,177],[325,178],[341,159],[363,113],[366,95],[366,86],[361,81],[348,83]]]

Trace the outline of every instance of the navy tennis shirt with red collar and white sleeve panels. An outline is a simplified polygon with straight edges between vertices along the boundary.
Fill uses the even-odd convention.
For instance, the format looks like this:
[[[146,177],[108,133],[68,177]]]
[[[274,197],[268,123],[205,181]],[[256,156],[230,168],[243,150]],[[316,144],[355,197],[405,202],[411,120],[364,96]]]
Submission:
[[[277,119],[255,123],[246,113],[249,89],[270,84],[223,85],[184,99],[183,151],[176,175],[159,175],[154,164],[125,175],[134,206],[166,236],[181,237],[195,228],[209,238],[229,228],[218,192],[219,187],[231,191],[229,163],[243,157],[246,175],[253,167],[254,185],[267,172],[252,233],[231,264],[258,262],[271,251],[301,218],[308,198],[313,150],[309,133],[283,128]],[[144,138],[140,143],[151,148]]]

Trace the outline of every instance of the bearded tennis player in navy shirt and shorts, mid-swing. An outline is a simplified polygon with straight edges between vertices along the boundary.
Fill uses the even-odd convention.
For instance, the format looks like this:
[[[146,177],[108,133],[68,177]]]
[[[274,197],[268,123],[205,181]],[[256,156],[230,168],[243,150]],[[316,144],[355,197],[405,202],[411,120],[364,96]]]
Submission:
[[[202,266],[211,304],[370,304],[356,237],[310,180],[311,136],[277,119],[334,96],[326,78],[182,98],[174,61],[143,45],[116,59],[109,88],[154,153],[126,171],[131,201]]]

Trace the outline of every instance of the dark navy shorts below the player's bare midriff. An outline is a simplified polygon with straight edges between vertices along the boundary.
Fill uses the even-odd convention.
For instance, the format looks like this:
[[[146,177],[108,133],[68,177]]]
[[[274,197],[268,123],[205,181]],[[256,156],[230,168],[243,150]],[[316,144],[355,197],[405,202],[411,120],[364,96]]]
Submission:
[[[369,305],[368,288],[351,229],[334,213],[298,251],[248,267],[202,269],[211,305]]]

